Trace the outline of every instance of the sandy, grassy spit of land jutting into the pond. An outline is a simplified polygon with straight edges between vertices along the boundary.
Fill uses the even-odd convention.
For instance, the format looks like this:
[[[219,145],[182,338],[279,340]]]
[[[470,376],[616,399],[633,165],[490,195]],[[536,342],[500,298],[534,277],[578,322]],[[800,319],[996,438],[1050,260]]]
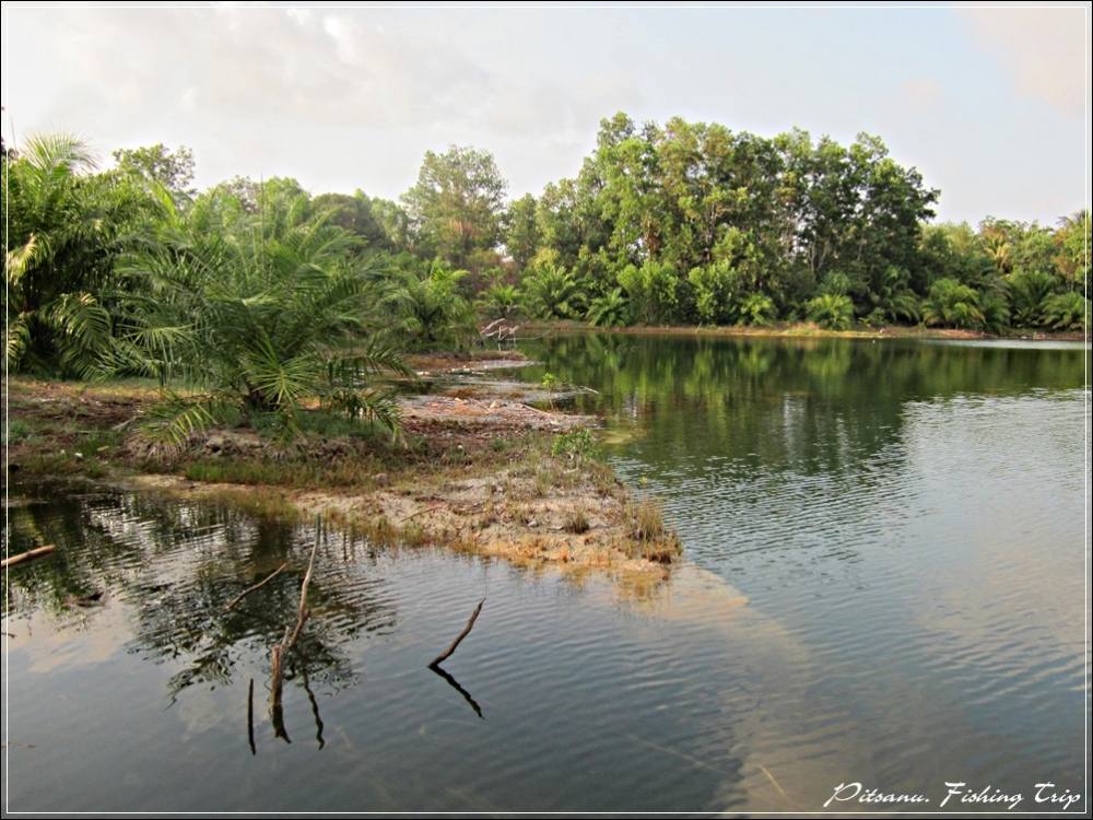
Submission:
[[[154,390],[26,378],[12,379],[10,390],[15,488],[23,477],[81,477],[259,516],[322,515],[388,547],[654,582],[681,554],[659,505],[597,460],[593,417],[435,396],[432,412],[404,413],[401,449],[308,433],[284,450],[249,430],[214,429],[158,457],[127,433]]]

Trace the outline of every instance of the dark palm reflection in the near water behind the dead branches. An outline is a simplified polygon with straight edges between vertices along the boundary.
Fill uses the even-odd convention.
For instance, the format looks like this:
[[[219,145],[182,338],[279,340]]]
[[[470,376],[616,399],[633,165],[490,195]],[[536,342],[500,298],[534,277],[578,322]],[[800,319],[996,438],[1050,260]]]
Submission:
[[[4,614],[36,608],[61,620],[93,619],[81,596],[103,593],[132,623],[129,651],[180,668],[168,681],[174,700],[195,684],[231,682],[240,661],[268,661],[295,617],[301,576],[316,532],[210,504],[131,492],[72,494],[27,488],[32,501],[9,509],[11,548],[56,543],[48,561],[5,574]],[[71,546],[72,549],[64,549]],[[310,692],[352,682],[343,647],[362,633],[388,632],[397,614],[381,576],[369,576],[368,544],[341,534],[320,540],[308,595],[313,617],[285,680]],[[225,605],[283,562],[289,569],[233,608]],[[310,695],[321,743],[321,721]]]

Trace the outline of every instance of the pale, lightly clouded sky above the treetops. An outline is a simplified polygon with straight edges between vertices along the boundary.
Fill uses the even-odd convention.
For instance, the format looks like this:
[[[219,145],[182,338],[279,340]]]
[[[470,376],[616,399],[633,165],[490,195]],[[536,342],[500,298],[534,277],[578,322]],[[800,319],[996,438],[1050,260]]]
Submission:
[[[867,131],[939,219],[1090,201],[1090,7],[2,4],[7,141],[187,145],[197,183],[397,198],[427,150],[493,152],[509,196],[574,176],[599,120]]]

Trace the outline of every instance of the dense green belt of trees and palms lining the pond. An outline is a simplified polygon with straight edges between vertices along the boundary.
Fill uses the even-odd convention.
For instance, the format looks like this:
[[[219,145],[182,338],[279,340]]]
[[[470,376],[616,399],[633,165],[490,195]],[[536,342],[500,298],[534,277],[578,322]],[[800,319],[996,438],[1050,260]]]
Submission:
[[[572,179],[506,199],[484,151],[425,155],[400,201],[293,179],[192,187],[163,145],[95,168],[39,136],[4,163],[5,362],[154,376],[218,413],[291,430],[316,397],[390,423],[393,351],[457,348],[475,320],[1086,326],[1088,210],[1054,227],[935,224],[939,192],[875,137],[850,145],[619,114]]]

